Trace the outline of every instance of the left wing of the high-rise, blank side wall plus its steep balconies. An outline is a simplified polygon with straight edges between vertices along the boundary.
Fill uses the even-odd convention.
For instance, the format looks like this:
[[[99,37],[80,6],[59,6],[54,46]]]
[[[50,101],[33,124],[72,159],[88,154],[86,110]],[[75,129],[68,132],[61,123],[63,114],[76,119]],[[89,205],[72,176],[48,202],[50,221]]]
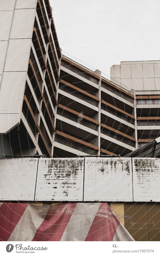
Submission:
[[[0,133],[4,154],[53,155],[61,49],[48,1],[1,1]]]

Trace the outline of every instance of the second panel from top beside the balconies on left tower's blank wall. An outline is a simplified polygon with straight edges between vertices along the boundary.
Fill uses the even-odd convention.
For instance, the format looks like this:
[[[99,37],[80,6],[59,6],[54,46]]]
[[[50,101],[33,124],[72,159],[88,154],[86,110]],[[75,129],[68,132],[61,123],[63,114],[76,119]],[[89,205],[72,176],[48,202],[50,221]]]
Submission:
[[[32,38],[34,21],[35,9],[15,10],[10,39]]]

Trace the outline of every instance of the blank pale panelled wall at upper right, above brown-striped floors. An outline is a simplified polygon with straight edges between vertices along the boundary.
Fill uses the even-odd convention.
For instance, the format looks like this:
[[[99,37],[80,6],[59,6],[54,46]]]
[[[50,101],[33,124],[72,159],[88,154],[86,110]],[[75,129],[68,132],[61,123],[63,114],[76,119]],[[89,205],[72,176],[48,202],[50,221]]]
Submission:
[[[160,89],[160,61],[121,62],[110,68],[111,81],[133,90]]]

